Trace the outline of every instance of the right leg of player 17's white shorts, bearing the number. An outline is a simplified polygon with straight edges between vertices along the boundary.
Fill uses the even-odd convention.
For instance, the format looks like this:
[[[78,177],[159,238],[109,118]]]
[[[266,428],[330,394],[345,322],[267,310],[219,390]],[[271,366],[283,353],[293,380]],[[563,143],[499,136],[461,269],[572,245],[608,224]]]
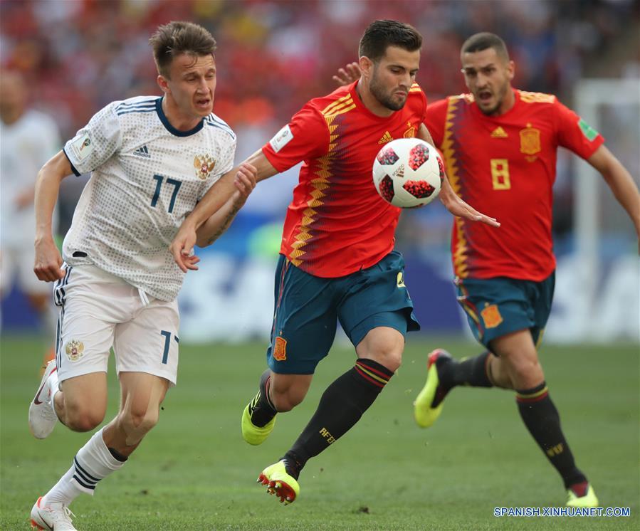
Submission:
[[[176,384],[180,317],[177,300],[154,299],[127,322],[115,327],[117,373],[145,372]]]

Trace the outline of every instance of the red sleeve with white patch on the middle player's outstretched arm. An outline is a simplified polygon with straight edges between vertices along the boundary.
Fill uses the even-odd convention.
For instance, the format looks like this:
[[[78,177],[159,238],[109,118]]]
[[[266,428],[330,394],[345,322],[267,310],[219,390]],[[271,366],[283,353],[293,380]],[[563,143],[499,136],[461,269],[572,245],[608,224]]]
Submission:
[[[284,172],[300,161],[322,157],[328,148],[327,122],[307,104],[263,146],[262,152],[278,172]]]

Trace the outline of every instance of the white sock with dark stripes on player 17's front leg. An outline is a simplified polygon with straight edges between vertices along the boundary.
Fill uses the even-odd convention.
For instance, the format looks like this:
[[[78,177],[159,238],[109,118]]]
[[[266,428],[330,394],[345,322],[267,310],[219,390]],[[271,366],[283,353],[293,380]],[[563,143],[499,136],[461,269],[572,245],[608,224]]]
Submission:
[[[70,505],[81,493],[93,495],[95,485],[125,462],[111,455],[103,439],[103,429],[95,432],[73,459],[73,465],[43,497],[43,505],[62,502]]]

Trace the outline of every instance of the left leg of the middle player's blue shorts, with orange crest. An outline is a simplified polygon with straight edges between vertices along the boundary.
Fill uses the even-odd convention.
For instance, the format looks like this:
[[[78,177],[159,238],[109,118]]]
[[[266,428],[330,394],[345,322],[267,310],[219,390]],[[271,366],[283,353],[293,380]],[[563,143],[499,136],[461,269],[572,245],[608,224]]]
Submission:
[[[278,374],[313,374],[337,326],[335,279],[305,273],[280,256],[267,363]]]

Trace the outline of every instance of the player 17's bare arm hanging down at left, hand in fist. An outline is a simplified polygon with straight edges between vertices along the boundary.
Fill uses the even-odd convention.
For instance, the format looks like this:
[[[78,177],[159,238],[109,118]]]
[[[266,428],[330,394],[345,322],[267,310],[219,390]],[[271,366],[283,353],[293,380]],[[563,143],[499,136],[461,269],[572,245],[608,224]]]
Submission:
[[[53,282],[64,276],[62,257],[53,241],[51,216],[58,201],[62,179],[72,174],[71,164],[64,152],[54,155],[38,172],[36,179],[36,260],[33,272],[40,280]]]

